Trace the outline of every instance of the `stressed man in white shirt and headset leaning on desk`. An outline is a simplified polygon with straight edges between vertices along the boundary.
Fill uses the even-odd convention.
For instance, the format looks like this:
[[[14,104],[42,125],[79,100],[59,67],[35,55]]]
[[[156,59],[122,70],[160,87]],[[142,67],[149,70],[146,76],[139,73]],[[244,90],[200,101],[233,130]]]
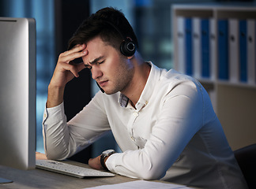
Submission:
[[[205,89],[190,76],[143,61],[136,47],[118,10],[101,9],[81,24],[48,87],[47,158],[69,158],[111,130],[122,153],[90,159],[94,169],[201,188],[247,188]],[[83,63],[74,64],[79,57]],[[85,68],[104,93],[66,123],[64,88]]]

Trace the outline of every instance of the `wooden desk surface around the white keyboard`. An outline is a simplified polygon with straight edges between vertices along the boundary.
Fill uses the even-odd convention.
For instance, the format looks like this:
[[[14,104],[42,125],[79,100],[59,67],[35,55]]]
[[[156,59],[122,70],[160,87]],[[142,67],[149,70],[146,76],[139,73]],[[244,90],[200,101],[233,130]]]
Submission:
[[[70,164],[88,167],[75,161],[69,161]],[[134,181],[134,179],[116,175],[114,177],[85,177],[84,179],[73,176],[65,176],[55,172],[49,172],[41,169],[19,170],[0,165],[0,177],[13,180],[13,183],[0,184],[0,188],[32,189],[32,188],[85,188],[96,187],[105,184],[124,183]]]

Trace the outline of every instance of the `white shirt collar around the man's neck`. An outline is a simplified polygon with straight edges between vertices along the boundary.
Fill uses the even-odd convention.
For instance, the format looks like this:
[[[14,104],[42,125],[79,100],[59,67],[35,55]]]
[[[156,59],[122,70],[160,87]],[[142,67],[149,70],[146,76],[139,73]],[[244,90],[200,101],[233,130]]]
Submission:
[[[146,106],[149,103],[150,97],[152,95],[152,91],[154,89],[154,86],[156,86],[156,83],[158,80],[160,80],[160,69],[156,67],[156,65],[152,64],[151,61],[147,62],[150,66],[150,72],[149,72],[149,78],[145,84],[145,87],[141,93],[141,97],[137,101],[136,109],[141,109],[142,107]],[[127,107],[129,103],[129,98],[126,97],[126,95],[123,95],[120,93],[119,95],[119,104],[122,107]]]

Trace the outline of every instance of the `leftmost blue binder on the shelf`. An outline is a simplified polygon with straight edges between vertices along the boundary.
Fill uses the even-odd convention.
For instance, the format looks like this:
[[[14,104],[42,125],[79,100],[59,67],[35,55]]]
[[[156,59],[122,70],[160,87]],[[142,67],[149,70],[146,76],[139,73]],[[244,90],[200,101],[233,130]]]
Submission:
[[[186,74],[193,74],[193,52],[192,52],[192,19],[185,18],[185,70]]]

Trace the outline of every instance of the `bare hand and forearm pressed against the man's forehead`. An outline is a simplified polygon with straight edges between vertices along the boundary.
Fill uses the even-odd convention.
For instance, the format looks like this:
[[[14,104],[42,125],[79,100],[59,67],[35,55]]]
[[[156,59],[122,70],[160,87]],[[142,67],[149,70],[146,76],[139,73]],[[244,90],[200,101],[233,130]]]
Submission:
[[[66,83],[72,80],[74,76],[78,77],[78,72],[85,69],[83,63],[73,64],[72,62],[74,59],[88,54],[88,50],[85,50],[85,47],[85,44],[77,45],[72,50],[59,55],[55,72],[48,86],[47,108],[58,106],[63,102]]]

